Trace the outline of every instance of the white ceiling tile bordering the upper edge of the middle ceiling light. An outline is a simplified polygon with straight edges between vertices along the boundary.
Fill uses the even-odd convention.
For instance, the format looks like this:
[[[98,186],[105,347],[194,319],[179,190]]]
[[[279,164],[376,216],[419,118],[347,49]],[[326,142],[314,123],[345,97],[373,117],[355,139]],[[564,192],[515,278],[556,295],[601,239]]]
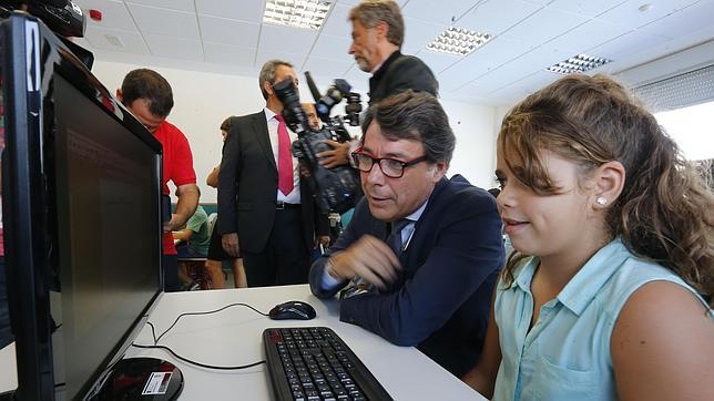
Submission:
[[[540,9],[541,6],[519,0],[486,1],[458,20],[456,25],[498,35]]]

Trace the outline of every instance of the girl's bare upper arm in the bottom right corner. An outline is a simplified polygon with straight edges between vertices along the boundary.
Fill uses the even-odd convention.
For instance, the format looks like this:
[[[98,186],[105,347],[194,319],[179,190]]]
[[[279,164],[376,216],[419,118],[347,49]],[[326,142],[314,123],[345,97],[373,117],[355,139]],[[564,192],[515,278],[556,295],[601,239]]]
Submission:
[[[638,289],[620,312],[610,352],[622,400],[714,400],[714,321],[680,285]]]

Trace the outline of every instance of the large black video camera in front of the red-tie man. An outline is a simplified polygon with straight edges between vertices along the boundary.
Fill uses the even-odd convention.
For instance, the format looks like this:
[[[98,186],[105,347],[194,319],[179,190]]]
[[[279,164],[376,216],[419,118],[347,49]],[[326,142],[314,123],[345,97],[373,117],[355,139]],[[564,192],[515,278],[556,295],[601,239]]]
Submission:
[[[285,79],[273,85],[275,94],[283,102],[283,117],[286,124],[298,136],[293,142],[293,155],[297,157],[309,171],[307,177],[310,188],[317,197],[317,205],[324,213],[344,213],[355,206],[359,191],[359,178],[351,166],[326,168],[319,164],[317,154],[332,150],[325,140],[347,142],[349,133],[340,116],[329,116],[332,107],[347,97],[346,119],[350,125],[359,125],[361,104],[359,94],[350,92],[351,86],[345,80],[335,80],[335,83],[320,96],[309,72],[305,73],[307,84],[315,99],[317,115],[325,123],[319,131],[310,128],[307,114],[300,105],[297,89],[292,79]]]

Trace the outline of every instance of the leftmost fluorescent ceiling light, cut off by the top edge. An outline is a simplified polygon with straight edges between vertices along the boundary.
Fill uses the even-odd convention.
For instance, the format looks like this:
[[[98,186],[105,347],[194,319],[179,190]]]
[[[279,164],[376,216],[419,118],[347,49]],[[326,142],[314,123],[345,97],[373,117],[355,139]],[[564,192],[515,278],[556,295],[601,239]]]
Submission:
[[[320,0],[267,0],[263,22],[318,30],[330,4]]]

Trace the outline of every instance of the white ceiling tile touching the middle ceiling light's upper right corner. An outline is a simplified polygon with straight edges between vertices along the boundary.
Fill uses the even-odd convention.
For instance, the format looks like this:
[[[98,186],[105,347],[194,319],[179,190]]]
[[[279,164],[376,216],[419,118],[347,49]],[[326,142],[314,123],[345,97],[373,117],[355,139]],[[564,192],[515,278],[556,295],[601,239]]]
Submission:
[[[510,39],[541,44],[588,21],[588,17],[553,9],[541,9],[503,33]]]

